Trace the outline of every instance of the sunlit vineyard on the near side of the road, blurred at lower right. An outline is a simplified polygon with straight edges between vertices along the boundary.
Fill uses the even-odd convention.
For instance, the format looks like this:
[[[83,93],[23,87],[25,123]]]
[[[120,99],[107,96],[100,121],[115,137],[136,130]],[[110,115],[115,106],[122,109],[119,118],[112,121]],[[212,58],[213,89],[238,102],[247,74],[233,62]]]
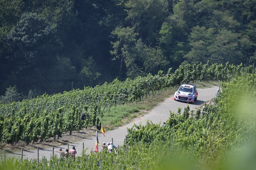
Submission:
[[[241,94],[241,91],[243,92]],[[250,96],[250,98],[248,98]],[[239,99],[239,101],[238,101]],[[170,113],[167,125],[147,122],[128,129],[117,154],[85,150],[73,159],[9,158],[2,169],[255,169],[256,74],[235,75],[207,105],[207,114]],[[250,145],[249,145],[250,144]]]

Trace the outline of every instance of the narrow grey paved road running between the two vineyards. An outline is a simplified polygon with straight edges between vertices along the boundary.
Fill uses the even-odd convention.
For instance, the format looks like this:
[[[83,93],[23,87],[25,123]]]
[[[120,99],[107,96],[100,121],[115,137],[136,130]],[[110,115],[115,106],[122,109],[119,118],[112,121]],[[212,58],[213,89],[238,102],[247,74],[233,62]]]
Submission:
[[[133,122],[121,126],[115,130],[108,131],[105,133],[105,137],[103,136],[102,133],[98,132],[98,139],[99,143],[102,144],[103,142],[110,142],[113,138],[113,143],[115,146],[121,146],[124,143],[125,136],[127,135],[127,128],[131,128],[133,123],[139,125],[141,123],[142,125],[146,124],[147,120],[151,120],[153,123],[159,123],[166,121],[169,116],[170,116],[170,111],[176,113],[177,108],[182,107],[182,112],[184,110],[184,107],[189,105],[190,109],[191,108],[196,108],[203,102],[207,102],[208,100],[212,99],[215,97],[216,94],[216,89],[218,89],[218,86],[213,86],[211,88],[198,88],[198,99],[197,101],[194,102],[194,104],[187,104],[183,102],[178,102],[173,100],[173,96],[170,96],[167,98],[165,101],[160,103],[156,108],[152,109],[148,114],[144,115],[143,117],[140,118],[135,118]],[[95,128],[96,130],[96,128]],[[96,132],[96,131],[95,131]],[[81,155],[81,151],[83,149],[83,143],[84,143],[84,148],[89,148],[87,149],[86,153],[89,154],[90,150],[95,147],[95,141],[96,137],[91,136],[91,138],[87,138],[83,141],[77,141],[76,143],[70,143],[69,144],[69,150],[72,148],[72,146],[75,146],[76,151],[77,151],[77,156]],[[59,148],[62,148],[62,151],[65,151],[67,149],[67,145],[59,146],[55,148],[56,150],[59,150]],[[39,150],[39,159],[42,160],[42,157],[45,156],[47,160],[50,159],[51,154],[53,153],[52,147],[46,148],[44,150]],[[99,146],[99,151],[101,150],[101,147]],[[1,153],[3,154],[3,153]],[[54,152],[54,154],[59,154],[57,152]],[[8,157],[19,157],[21,156],[20,153],[6,153],[6,158]],[[38,158],[38,152],[37,150],[31,150],[31,151],[23,151],[23,158],[26,159],[37,159]]]

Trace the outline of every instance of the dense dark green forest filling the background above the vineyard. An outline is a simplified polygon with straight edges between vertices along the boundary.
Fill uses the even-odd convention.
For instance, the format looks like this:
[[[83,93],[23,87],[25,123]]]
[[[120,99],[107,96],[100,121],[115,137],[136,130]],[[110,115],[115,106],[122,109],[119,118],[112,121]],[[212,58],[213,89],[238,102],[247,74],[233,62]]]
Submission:
[[[0,95],[256,62],[256,0],[0,0]]]

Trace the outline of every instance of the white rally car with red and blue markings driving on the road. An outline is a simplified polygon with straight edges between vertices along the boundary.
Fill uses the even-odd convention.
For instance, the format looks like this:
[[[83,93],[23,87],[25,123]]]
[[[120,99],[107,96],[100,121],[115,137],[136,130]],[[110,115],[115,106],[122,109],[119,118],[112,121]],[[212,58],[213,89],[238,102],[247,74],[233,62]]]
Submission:
[[[197,86],[185,83],[174,93],[174,100],[194,103],[197,100],[197,95]]]

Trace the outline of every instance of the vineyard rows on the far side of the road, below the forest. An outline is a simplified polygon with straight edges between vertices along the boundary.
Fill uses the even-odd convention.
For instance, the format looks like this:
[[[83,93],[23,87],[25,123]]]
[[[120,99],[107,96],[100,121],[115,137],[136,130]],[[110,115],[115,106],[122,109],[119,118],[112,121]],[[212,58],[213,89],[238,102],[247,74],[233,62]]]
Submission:
[[[184,81],[230,81],[237,75],[255,72],[254,66],[242,64],[187,64],[180,66],[173,75],[170,68],[167,74],[159,71],[157,75],[148,74],[134,80],[114,80],[94,88],[85,87],[51,96],[44,94],[31,100],[1,104],[0,141],[12,145],[24,141],[28,145],[51,137],[57,139],[63,132],[71,135],[72,131],[95,125],[97,116],[103,117],[110,107],[147,98],[150,92]],[[79,118],[84,111],[87,111],[86,120],[81,121]]]

